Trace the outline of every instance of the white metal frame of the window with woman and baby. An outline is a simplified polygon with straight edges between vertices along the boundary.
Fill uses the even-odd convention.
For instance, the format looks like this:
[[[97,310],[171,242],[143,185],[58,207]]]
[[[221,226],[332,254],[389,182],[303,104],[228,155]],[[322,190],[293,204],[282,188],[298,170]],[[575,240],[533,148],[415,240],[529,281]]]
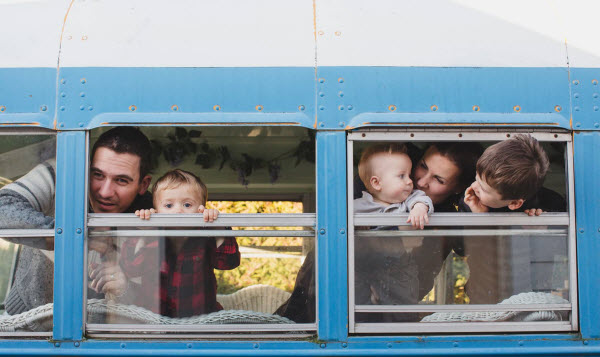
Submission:
[[[506,225],[567,225],[567,249],[569,266],[569,304],[531,304],[531,305],[356,305],[355,304],[355,273],[354,273],[354,237],[355,226],[375,225],[399,225],[398,222],[406,221],[408,214],[394,215],[390,217],[385,214],[367,215],[352,214],[353,185],[354,182],[354,157],[353,143],[355,141],[369,142],[485,142],[501,141],[508,137],[528,133],[540,142],[561,142],[566,145],[566,184],[568,212],[567,213],[545,213],[540,217],[529,217],[522,213],[434,213],[428,226],[455,226],[455,225],[477,225],[477,226],[499,226]],[[557,332],[576,331],[578,329],[578,306],[577,306],[577,260],[576,260],[576,236],[575,236],[575,202],[574,202],[574,174],[573,174],[573,140],[572,135],[564,130],[557,129],[371,129],[357,130],[348,133],[347,137],[347,180],[348,180],[348,308],[349,308],[349,332],[351,334],[362,333],[488,333],[488,332]],[[403,219],[404,217],[404,219]],[[471,233],[490,234],[492,231],[470,230]],[[473,233],[474,232],[474,233]],[[497,235],[496,230],[493,230]],[[511,230],[514,234],[515,231]],[[454,232],[462,235],[465,233]],[[532,231],[528,230],[528,234]],[[536,232],[543,234],[544,232]],[[361,235],[377,235],[376,232],[362,232]],[[380,233],[381,234],[381,233]],[[385,232],[389,235],[390,232]],[[393,232],[393,235],[415,235],[411,231]],[[419,236],[448,236],[447,231],[420,231]],[[432,307],[434,306],[434,307]],[[397,322],[397,323],[360,323],[356,322],[357,312],[450,312],[450,311],[564,311],[570,310],[570,321],[540,321],[540,322]]]

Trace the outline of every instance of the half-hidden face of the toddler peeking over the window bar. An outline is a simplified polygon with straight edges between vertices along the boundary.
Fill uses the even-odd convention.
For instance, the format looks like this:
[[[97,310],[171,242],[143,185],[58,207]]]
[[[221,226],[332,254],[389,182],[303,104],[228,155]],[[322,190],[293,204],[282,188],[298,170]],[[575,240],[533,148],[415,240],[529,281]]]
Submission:
[[[162,189],[156,193],[154,206],[157,213],[198,213],[203,204],[202,192],[192,185]]]

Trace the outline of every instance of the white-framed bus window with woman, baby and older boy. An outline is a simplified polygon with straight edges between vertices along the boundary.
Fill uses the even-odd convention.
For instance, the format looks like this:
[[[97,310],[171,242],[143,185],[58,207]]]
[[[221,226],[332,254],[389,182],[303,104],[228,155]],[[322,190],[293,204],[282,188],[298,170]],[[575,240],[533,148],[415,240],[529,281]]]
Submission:
[[[486,181],[472,186],[481,181],[475,163],[482,152],[518,134],[410,129],[349,134],[351,332],[576,329],[570,136],[522,133],[539,141],[549,170],[543,186],[519,207],[499,196],[500,201],[486,201],[501,202],[495,208],[472,213],[464,201],[469,187],[492,187]],[[386,196],[381,163],[393,170],[404,165],[410,175],[403,181],[403,203],[390,202],[400,196]],[[517,175],[511,170],[508,176]],[[433,208],[423,230],[407,223],[419,204]],[[532,209],[543,213],[525,213]]]

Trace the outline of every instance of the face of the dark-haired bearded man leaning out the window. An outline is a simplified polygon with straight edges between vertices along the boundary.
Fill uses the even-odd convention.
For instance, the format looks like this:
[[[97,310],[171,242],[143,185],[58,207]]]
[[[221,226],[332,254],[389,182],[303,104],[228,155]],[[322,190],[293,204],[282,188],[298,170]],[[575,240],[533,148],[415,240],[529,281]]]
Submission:
[[[150,184],[140,180],[140,157],[100,147],[90,166],[90,205],[95,213],[122,213]]]

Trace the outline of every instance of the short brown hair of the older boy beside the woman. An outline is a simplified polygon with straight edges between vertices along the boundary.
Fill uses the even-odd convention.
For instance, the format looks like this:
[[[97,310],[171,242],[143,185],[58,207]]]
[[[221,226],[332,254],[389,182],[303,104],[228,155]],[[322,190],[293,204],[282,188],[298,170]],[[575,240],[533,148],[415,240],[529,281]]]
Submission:
[[[487,148],[477,161],[477,173],[502,199],[528,199],[542,187],[549,166],[540,143],[518,134]]]

